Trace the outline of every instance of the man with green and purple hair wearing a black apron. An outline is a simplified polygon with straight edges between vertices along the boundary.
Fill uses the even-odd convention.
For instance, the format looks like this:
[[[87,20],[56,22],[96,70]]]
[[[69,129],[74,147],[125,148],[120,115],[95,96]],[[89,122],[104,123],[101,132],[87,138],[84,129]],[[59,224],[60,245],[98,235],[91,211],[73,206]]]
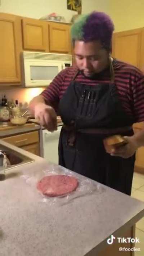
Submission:
[[[102,12],[81,15],[71,27],[75,66],[61,71],[30,109],[49,131],[64,123],[59,165],[125,194],[131,194],[135,151],[144,145],[144,76],[111,57],[114,24]],[[120,134],[127,144],[106,153],[103,139]]]

